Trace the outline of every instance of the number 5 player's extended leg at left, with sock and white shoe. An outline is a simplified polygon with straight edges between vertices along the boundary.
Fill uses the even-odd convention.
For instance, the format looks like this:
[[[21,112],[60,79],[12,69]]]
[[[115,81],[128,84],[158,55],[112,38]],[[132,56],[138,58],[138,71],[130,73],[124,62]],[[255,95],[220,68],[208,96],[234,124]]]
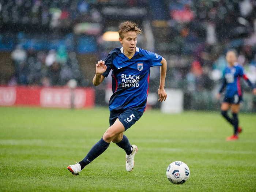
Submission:
[[[79,174],[80,171],[92,162],[95,158],[101,155],[109,146],[110,142],[116,135],[124,132],[124,125],[117,119],[113,125],[111,125],[108,130],[104,133],[101,140],[99,140],[89,151],[86,157],[75,165],[69,165],[68,170],[72,174]]]

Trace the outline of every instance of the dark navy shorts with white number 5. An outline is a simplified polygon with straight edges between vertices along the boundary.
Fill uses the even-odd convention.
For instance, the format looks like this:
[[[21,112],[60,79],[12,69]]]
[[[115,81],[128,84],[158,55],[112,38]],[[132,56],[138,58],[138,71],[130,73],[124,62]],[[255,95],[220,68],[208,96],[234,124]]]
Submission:
[[[138,111],[136,108],[129,108],[124,110],[112,110],[109,116],[109,126],[113,125],[118,118],[124,125],[125,131],[130,128],[139,118],[143,112]]]

